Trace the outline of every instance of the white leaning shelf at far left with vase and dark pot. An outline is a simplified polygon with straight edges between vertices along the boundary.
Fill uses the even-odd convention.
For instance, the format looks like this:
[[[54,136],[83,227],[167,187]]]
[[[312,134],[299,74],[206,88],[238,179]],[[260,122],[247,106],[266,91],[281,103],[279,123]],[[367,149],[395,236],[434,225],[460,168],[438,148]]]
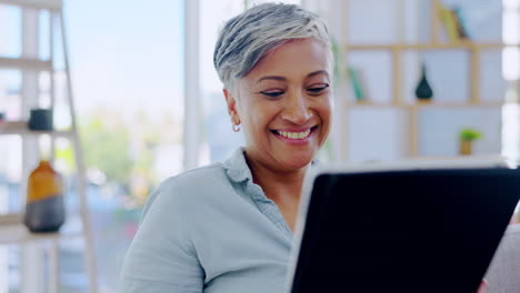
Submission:
[[[41,134],[47,134],[52,138],[56,137],[66,137],[67,139],[71,140],[71,144],[73,148],[73,154],[74,154],[74,165],[76,165],[76,171],[77,171],[77,179],[78,179],[78,184],[76,184],[76,194],[78,195],[79,200],[79,208],[80,208],[80,213],[79,213],[79,225],[81,226],[80,231],[69,231],[67,226],[62,226],[59,232],[56,233],[31,233],[22,223],[22,218],[18,215],[18,219],[11,218],[4,218],[0,215],[0,244],[24,244],[27,242],[30,242],[31,245],[27,245],[28,251],[30,251],[31,255],[34,253],[37,257],[21,257],[21,267],[22,270],[20,273],[20,280],[21,282],[27,285],[24,286],[24,292],[52,292],[52,293],[58,293],[59,287],[60,287],[60,282],[59,282],[59,240],[62,240],[63,238],[82,238],[84,241],[84,247],[81,249],[82,252],[82,259],[86,264],[86,273],[88,275],[88,292],[89,293],[97,293],[98,292],[98,282],[97,282],[97,267],[96,267],[96,261],[94,261],[94,245],[93,245],[93,238],[92,238],[92,231],[90,228],[90,222],[89,222],[89,206],[88,206],[88,201],[87,201],[87,194],[86,194],[86,170],[84,170],[84,163],[83,163],[83,154],[81,150],[81,145],[78,139],[78,129],[76,127],[76,113],[74,113],[74,105],[73,105],[73,94],[72,94],[72,85],[71,85],[71,78],[70,78],[70,67],[69,67],[69,50],[68,50],[68,41],[67,41],[67,30],[66,30],[66,21],[63,19],[63,11],[62,11],[62,6],[63,6],[63,0],[0,0],[0,6],[1,8],[4,8],[3,6],[7,6],[7,8],[11,9],[10,6],[12,6],[13,9],[16,9],[19,12],[22,12],[23,16],[27,14],[28,21],[37,21],[38,22],[38,16],[40,14],[41,10],[47,10],[46,12],[49,12],[49,20],[48,20],[48,27],[46,31],[49,36],[46,34],[43,31],[39,31],[38,28],[32,28],[32,26],[29,26],[26,29],[21,30],[20,37],[22,39],[28,39],[29,41],[27,42],[28,46],[22,46],[23,49],[30,49],[30,44],[32,42],[38,43],[38,36],[40,36],[42,32],[43,34],[41,36],[47,36],[49,37],[49,42],[46,47],[49,48],[51,55],[49,59],[43,59],[43,58],[38,58],[38,55],[32,57],[32,58],[9,58],[7,55],[0,55],[0,70],[8,69],[8,70],[14,70],[14,71],[28,71],[28,72],[49,72],[52,73],[53,70],[57,68],[56,60],[57,58],[62,58],[63,60],[63,71],[64,71],[64,78],[67,80],[66,82],[66,91],[67,91],[67,103],[70,112],[70,118],[71,118],[71,128],[69,130],[54,130],[54,131],[31,131],[28,129],[28,123],[27,121],[2,121],[0,122],[0,135],[8,135],[8,134],[14,134],[14,135],[41,135]],[[30,13],[24,13],[24,12],[30,12]],[[20,24],[21,26],[21,24]],[[9,30],[8,28],[0,27],[0,33]],[[57,30],[60,31],[60,33],[56,33]],[[41,37],[40,36],[40,37]],[[0,40],[1,42],[1,40]],[[52,54],[56,50],[53,49],[54,46],[60,47],[59,54]],[[26,48],[27,47],[27,48]],[[60,59],[61,60],[61,59]],[[38,84],[38,80],[36,79],[30,79],[30,81],[34,82],[34,84]],[[31,82],[28,83],[28,87],[31,87]],[[51,88],[57,87],[56,84],[56,79],[51,79]],[[50,92],[50,108],[54,105],[54,92]],[[29,98],[34,98],[38,100],[38,102],[41,101],[41,97],[21,97],[22,99],[22,112],[29,112],[29,104],[27,104],[27,99]],[[26,102],[26,103],[23,103]],[[39,145],[34,145],[36,150],[39,150]],[[27,174],[28,172],[28,165],[32,164],[32,158],[31,155],[33,150],[23,150],[22,154],[23,158],[29,155],[29,160],[23,160],[23,168],[22,168],[22,178],[26,178],[29,175]],[[36,154],[37,155],[37,154]],[[37,155],[38,156],[38,155]],[[37,158],[36,158],[37,159]],[[27,162],[26,162],[27,161]],[[0,162],[0,165],[3,164],[3,161]],[[23,182],[26,184],[26,182]],[[16,220],[16,221],[14,221]],[[44,250],[41,250],[40,247],[32,247],[32,243],[38,244],[38,245],[43,245],[47,251],[47,261],[43,259],[44,256]],[[41,255],[41,257],[40,257]],[[43,269],[43,264],[48,264],[47,273]],[[47,282],[49,284],[49,287],[44,290],[42,286],[44,284],[44,280],[49,280]]]

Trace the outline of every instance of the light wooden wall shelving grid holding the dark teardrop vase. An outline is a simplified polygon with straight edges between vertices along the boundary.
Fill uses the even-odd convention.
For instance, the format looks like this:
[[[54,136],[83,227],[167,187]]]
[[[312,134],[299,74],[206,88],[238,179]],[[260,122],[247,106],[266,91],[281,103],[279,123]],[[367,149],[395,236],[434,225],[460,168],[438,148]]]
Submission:
[[[352,0],[350,0],[352,1]],[[440,0],[429,0],[431,3],[431,14],[430,14],[430,41],[428,43],[407,43],[407,42],[396,42],[396,43],[350,43],[343,37],[343,46],[341,46],[341,53],[343,57],[343,62],[349,63],[349,54],[352,52],[377,52],[382,51],[389,54],[391,62],[391,101],[379,102],[379,101],[362,101],[357,102],[352,99],[347,99],[342,102],[342,113],[346,117],[349,117],[350,111],[356,109],[402,109],[408,111],[409,117],[409,127],[407,129],[409,143],[408,143],[408,154],[409,158],[419,158],[423,156],[419,153],[419,118],[421,115],[421,110],[427,109],[500,109],[504,101],[486,101],[480,97],[479,81],[481,74],[481,54],[486,50],[497,50],[507,47],[519,48],[519,43],[507,44],[501,42],[472,42],[470,40],[460,40],[457,42],[442,42],[440,38],[441,23],[439,20],[438,10],[440,7]],[[400,1],[402,3],[402,1]],[[348,11],[349,1],[343,1],[342,8],[343,11]],[[398,9],[402,9],[398,8]],[[401,23],[402,24],[402,23]],[[341,26],[343,31],[347,30],[347,26]],[[340,38],[341,39],[341,38]],[[403,54],[407,52],[417,52],[417,51],[436,51],[436,50],[464,50],[469,54],[468,62],[468,77],[469,84],[469,97],[466,101],[433,101],[431,102],[421,102],[421,101],[404,101],[403,100],[403,89],[402,89],[402,79],[403,79],[403,68],[402,59]],[[349,133],[344,125],[348,124],[348,120],[342,118],[341,123],[343,124],[342,129],[342,143],[340,144],[342,151],[348,153],[347,145],[349,144]],[[342,160],[349,160],[346,154],[343,154]]]

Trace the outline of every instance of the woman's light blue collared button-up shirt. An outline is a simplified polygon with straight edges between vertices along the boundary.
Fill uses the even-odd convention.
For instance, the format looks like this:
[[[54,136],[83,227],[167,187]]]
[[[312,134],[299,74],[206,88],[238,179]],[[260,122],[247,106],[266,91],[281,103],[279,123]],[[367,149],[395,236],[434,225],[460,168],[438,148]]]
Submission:
[[[239,149],[149,196],[120,292],[281,293],[291,244],[283,215],[252,182]]]

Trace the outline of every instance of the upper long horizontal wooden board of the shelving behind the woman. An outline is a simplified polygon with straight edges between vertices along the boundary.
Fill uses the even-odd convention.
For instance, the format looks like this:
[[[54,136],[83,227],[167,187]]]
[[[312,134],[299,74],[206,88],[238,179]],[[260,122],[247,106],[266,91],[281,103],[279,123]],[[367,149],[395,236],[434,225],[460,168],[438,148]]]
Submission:
[[[474,43],[460,41],[457,43],[399,43],[399,44],[348,44],[346,50],[446,50],[446,49],[501,49],[506,47],[520,47],[520,44],[506,43]]]

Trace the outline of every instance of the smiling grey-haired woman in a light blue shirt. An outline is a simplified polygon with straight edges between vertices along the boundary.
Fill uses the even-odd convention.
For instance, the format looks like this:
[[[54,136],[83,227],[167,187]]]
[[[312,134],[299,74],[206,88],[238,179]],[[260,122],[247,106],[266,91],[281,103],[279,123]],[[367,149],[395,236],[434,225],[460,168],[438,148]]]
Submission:
[[[302,181],[329,134],[323,21],[289,4],[229,20],[213,61],[246,146],[166,180],[144,205],[121,292],[283,292]]]

